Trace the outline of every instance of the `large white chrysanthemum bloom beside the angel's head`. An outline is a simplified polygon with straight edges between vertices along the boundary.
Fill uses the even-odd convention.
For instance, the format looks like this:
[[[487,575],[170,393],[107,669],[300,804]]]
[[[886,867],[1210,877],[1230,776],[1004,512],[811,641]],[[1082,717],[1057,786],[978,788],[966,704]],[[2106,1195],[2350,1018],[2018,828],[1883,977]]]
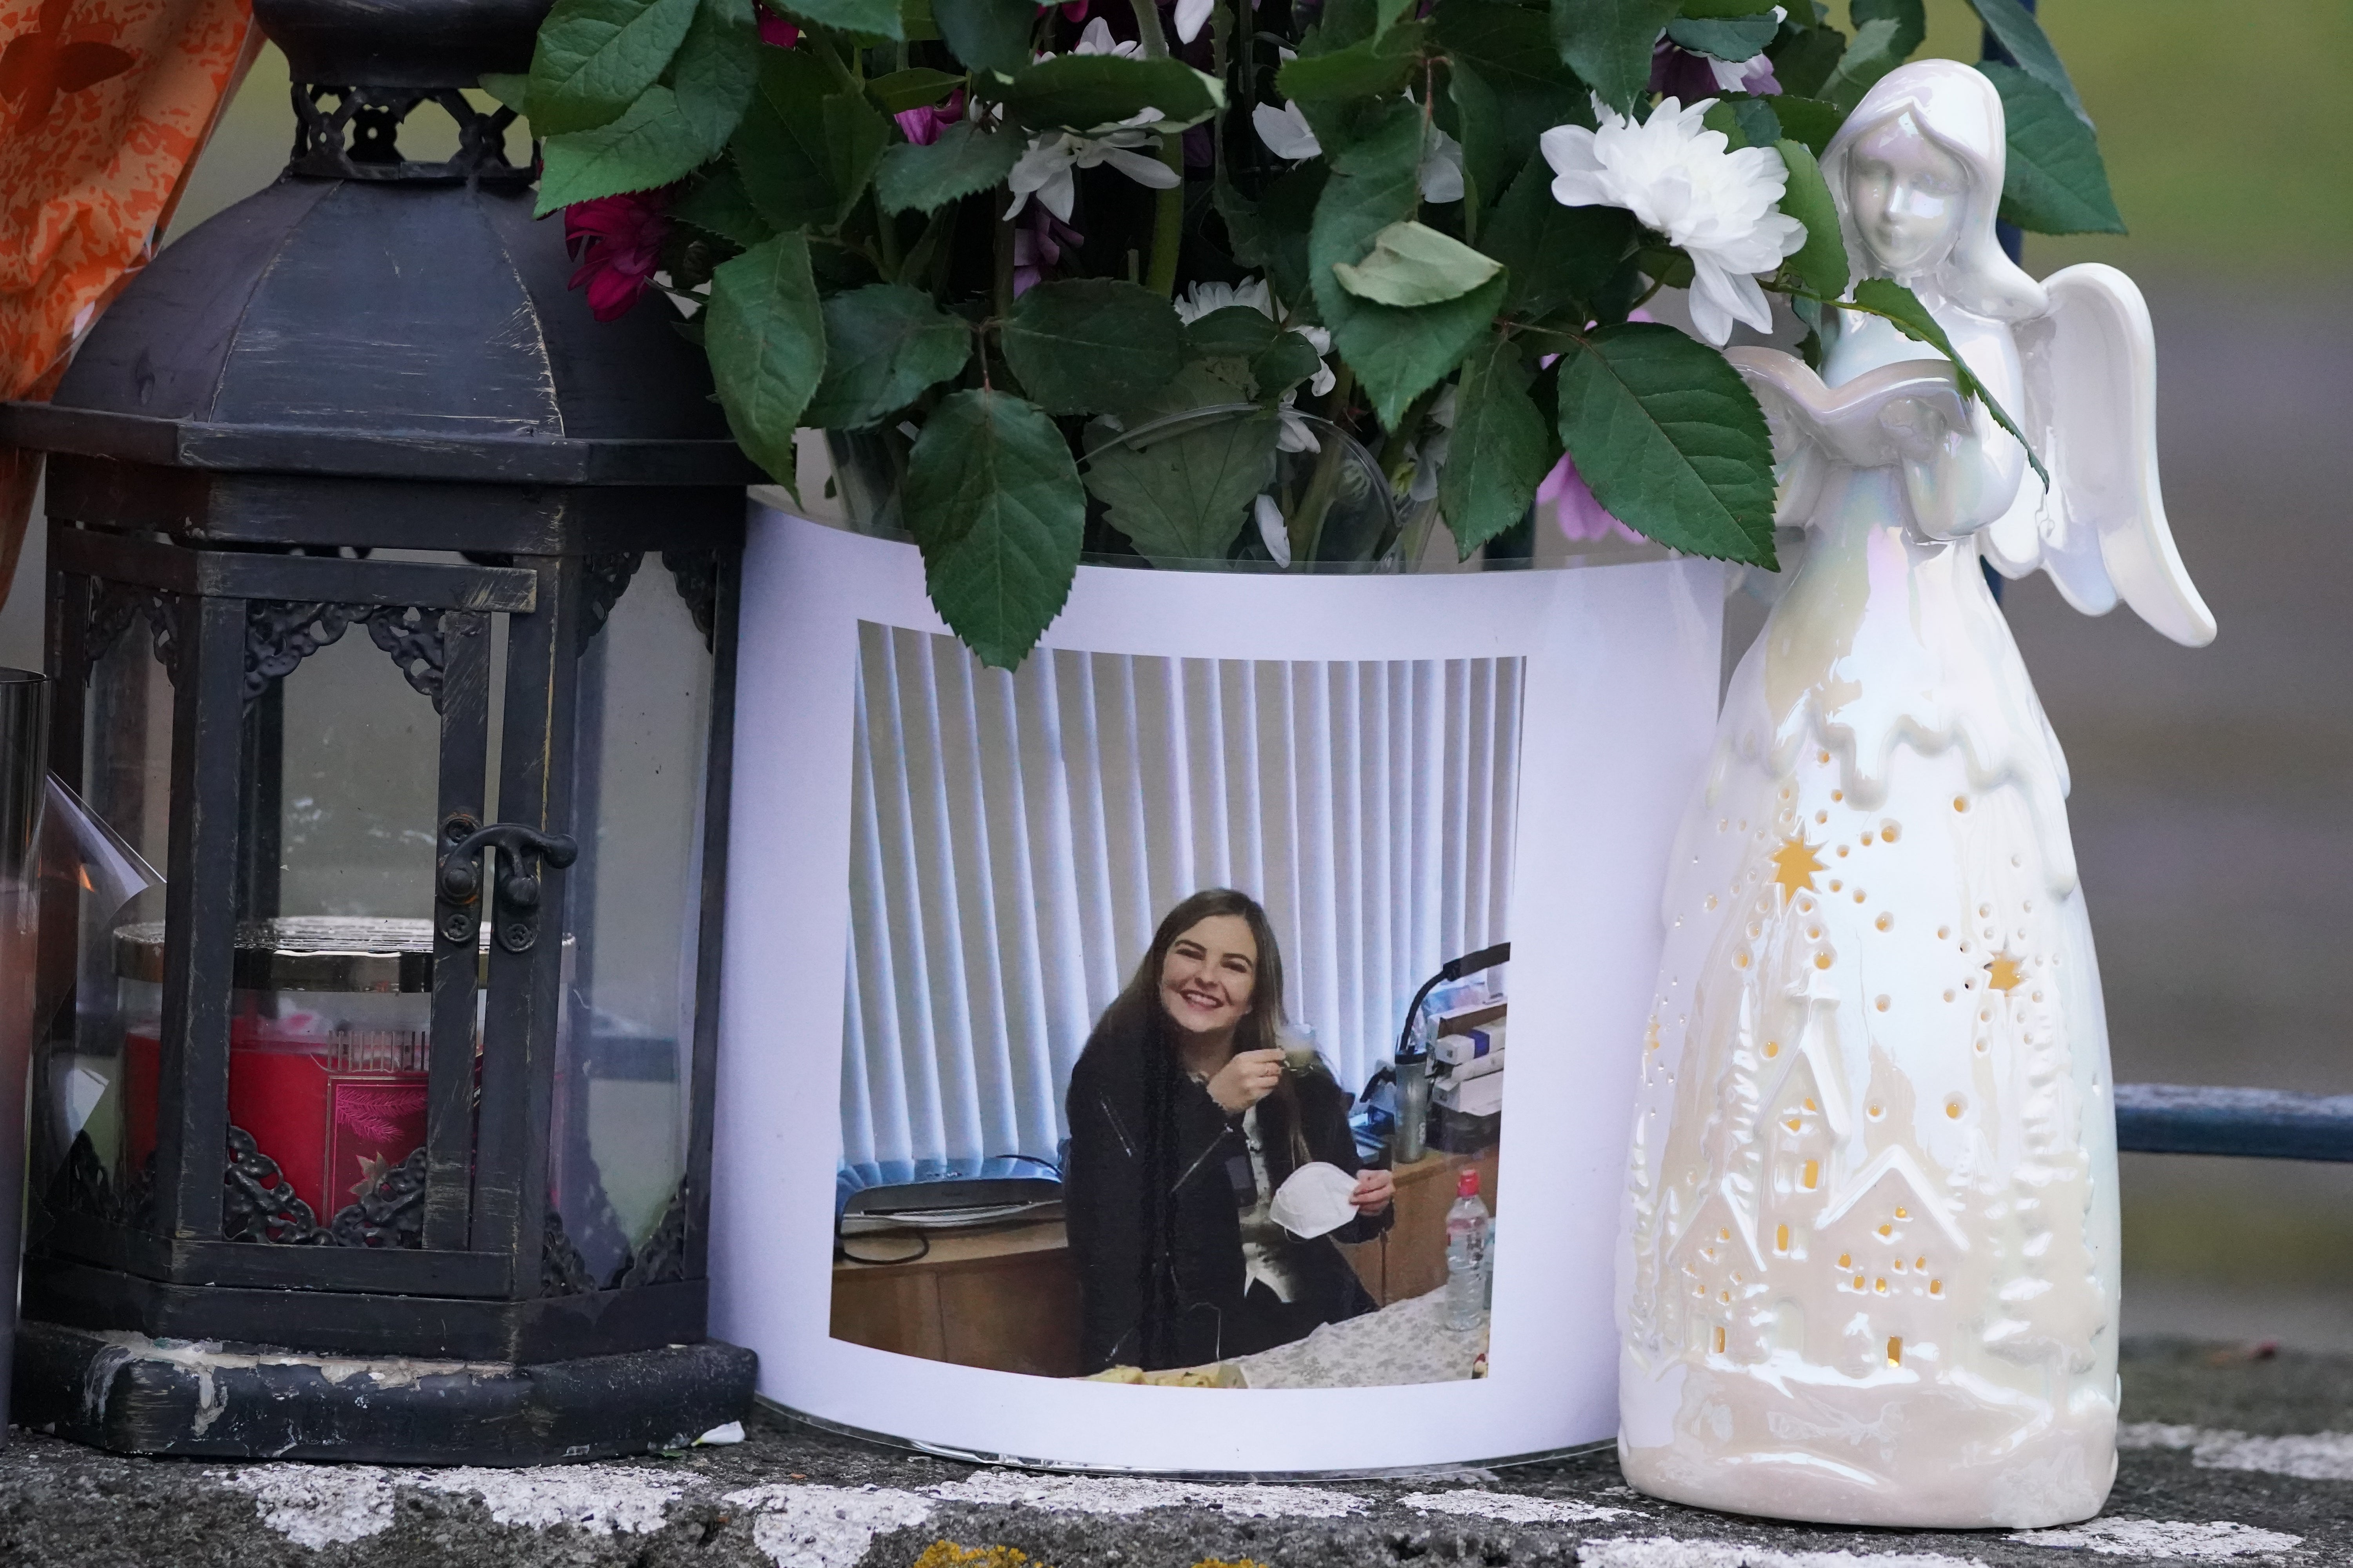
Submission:
[[[1755,275],[1805,247],[1805,223],[1777,212],[1788,186],[1781,155],[1729,150],[1722,132],[1701,125],[1713,106],[1715,99],[1689,108],[1661,99],[1635,125],[1595,101],[1598,132],[1555,125],[1539,146],[1553,165],[1555,202],[1624,207],[1692,259],[1692,327],[1722,346],[1732,322],[1772,331],[1772,306]]]

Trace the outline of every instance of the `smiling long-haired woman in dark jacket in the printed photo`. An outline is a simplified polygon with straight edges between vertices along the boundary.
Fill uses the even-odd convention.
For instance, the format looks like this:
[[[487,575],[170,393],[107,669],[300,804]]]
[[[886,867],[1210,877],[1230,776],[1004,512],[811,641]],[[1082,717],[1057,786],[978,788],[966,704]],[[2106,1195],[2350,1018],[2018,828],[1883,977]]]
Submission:
[[[1202,1366],[1372,1312],[1334,1241],[1388,1229],[1388,1171],[1360,1171],[1348,1091],[1285,1065],[1282,952],[1245,893],[1160,922],[1071,1070],[1064,1173],[1082,1363]],[[1353,1173],[1355,1218],[1299,1239],[1268,1206],[1304,1164]]]

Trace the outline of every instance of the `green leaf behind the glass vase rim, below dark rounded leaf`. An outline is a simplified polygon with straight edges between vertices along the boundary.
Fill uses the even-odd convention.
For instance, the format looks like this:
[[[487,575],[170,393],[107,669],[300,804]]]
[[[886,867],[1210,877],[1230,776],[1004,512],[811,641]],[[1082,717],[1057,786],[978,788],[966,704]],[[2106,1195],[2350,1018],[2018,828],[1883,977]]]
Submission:
[[[1155,567],[1224,559],[1249,503],[1275,482],[1273,409],[1176,421],[1151,444],[1115,442],[1087,458],[1087,489],[1111,527]]]

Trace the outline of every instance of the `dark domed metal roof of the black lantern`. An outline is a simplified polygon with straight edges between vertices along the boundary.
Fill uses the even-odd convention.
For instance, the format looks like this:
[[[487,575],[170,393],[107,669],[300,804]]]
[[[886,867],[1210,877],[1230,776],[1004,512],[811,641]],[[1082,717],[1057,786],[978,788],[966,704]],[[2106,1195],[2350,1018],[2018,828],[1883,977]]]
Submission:
[[[569,275],[562,221],[534,221],[527,188],[289,172],[99,317],[52,409],[120,416],[115,449],[92,451],[87,418],[61,444],[280,473],[755,477],[675,308],[649,292],[598,322]]]

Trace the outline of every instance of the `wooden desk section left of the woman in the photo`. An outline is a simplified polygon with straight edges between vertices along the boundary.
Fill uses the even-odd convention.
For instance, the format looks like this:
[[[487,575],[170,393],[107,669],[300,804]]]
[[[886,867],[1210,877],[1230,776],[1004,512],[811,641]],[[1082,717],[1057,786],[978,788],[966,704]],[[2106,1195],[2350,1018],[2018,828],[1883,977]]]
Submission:
[[[896,1237],[864,1241],[882,1251]],[[915,1262],[835,1260],[833,1338],[995,1373],[1075,1378],[1078,1267],[1061,1220],[936,1232]]]

